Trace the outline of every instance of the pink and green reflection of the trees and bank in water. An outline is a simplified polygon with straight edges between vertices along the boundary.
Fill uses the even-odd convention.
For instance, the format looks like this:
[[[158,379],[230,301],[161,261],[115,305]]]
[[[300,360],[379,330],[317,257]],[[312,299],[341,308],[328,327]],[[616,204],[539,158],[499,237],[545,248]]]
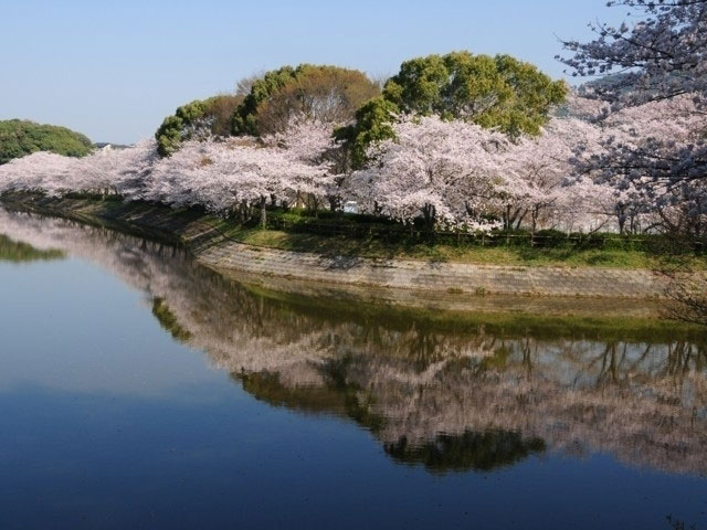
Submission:
[[[395,462],[445,473],[604,452],[707,473],[707,341],[695,330],[284,296],[103,229],[2,211],[0,226],[112,271],[145,293],[176,340],[255,399],[354,421]]]

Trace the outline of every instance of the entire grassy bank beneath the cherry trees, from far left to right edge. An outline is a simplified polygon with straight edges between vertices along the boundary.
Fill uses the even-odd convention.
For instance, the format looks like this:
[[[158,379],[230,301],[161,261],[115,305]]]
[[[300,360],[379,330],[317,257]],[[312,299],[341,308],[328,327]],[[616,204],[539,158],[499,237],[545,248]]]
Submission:
[[[436,262],[477,263],[510,266],[605,267],[626,269],[667,269],[675,266],[707,271],[707,253],[679,250],[674,242],[656,235],[567,234],[553,231],[538,232],[531,242],[527,232],[495,233],[492,236],[469,239],[455,234],[431,237],[422,230],[367,215],[319,212],[316,218],[302,211],[268,211],[268,229],[255,221],[239,223],[233,219],[210,215],[198,209],[169,209],[156,204],[122,202],[119,198],[101,200],[98,197],[71,195],[72,203],[27,197],[11,198],[12,202],[34,203],[39,211],[61,214],[72,211],[72,218],[82,218],[87,210],[98,206],[102,223],[131,222],[136,214],[155,219],[159,224],[202,223],[217,227],[233,241],[295,252],[324,255],[424,259]],[[80,202],[75,202],[80,201]],[[43,204],[46,202],[46,204]],[[64,212],[66,213],[66,212]],[[83,218],[82,218],[83,219]],[[145,224],[145,223],[143,223]],[[140,226],[148,229],[148,226]],[[169,229],[168,229],[169,231]],[[677,251],[677,252],[676,252]]]

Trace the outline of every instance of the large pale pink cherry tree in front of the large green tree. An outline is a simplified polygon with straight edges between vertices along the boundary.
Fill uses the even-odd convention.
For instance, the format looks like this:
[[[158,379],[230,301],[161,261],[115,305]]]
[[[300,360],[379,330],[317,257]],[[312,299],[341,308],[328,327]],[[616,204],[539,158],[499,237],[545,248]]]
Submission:
[[[497,208],[502,157],[509,145],[500,132],[436,116],[402,117],[395,139],[369,148],[376,160],[355,171],[346,193],[365,210],[429,229],[487,230]]]

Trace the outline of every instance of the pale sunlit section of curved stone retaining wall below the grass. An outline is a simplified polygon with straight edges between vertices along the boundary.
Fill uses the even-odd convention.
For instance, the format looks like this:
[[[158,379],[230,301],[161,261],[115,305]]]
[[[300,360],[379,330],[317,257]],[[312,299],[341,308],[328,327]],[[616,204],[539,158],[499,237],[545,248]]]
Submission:
[[[445,293],[657,298],[666,284],[651,271],[509,267],[319,256],[223,241],[197,253],[217,268],[336,284]]]

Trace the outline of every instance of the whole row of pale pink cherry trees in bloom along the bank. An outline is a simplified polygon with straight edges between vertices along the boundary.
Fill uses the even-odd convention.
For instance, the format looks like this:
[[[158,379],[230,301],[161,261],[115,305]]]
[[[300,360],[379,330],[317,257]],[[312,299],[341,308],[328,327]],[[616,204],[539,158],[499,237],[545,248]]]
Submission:
[[[624,232],[685,226],[700,235],[700,214],[688,222],[704,198],[698,187],[688,189],[688,201],[685,189],[644,190],[592,170],[611,146],[644,135],[689,141],[693,106],[688,97],[651,102],[597,120],[590,118],[602,116],[601,105],[573,96],[542,135],[515,140],[461,119],[403,115],[391,124],[394,139],[369,146],[372,161],[346,173],[336,171],[342,147],[330,124],[299,115],[284,132],[192,139],[167,158],[152,141],[81,159],[35,153],[0,170],[0,190],[119,193],[244,220],[257,214],[263,223],[271,205],[338,209],[355,200],[365,212],[421,219],[430,230],[591,230],[611,222]]]

